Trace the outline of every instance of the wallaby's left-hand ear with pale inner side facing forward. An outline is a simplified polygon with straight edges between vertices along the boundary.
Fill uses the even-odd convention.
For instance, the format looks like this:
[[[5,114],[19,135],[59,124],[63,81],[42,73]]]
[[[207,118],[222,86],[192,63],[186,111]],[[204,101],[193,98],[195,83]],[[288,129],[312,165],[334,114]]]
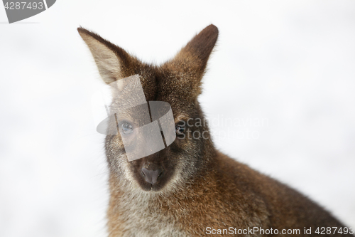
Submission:
[[[124,78],[124,70],[129,67],[132,60],[129,53],[96,33],[81,27],[77,28],[77,31],[87,43],[104,82],[110,84]]]

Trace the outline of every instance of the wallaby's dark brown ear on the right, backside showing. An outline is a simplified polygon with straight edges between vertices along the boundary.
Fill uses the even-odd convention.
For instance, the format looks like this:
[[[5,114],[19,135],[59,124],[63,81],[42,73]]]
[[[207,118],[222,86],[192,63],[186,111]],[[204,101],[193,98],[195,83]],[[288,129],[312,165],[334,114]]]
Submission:
[[[207,26],[180,50],[172,62],[181,63],[182,70],[190,71],[190,68],[202,78],[217,38],[218,28],[212,24]]]

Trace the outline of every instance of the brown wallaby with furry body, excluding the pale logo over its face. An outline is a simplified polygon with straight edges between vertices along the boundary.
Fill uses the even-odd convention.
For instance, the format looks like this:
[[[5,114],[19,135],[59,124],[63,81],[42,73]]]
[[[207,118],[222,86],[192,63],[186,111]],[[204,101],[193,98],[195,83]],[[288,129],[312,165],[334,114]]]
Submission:
[[[306,196],[214,147],[197,98],[216,26],[204,28],[161,65],[78,31],[104,83],[139,75],[146,100],[168,102],[175,118],[175,141],[131,162],[121,135],[107,135],[109,236],[353,236],[352,228]],[[134,125],[126,126],[134,139]]]

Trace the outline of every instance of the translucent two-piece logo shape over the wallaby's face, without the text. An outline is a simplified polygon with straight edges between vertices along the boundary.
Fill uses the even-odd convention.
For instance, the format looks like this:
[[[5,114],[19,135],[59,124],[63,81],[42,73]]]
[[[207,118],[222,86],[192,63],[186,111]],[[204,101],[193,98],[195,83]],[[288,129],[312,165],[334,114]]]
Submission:
[[[159,152],[175,141],[170,105],[146,101],[139,75],[104,86],[93,95],[92,106],[97,132],[119,134],[130,162]]]

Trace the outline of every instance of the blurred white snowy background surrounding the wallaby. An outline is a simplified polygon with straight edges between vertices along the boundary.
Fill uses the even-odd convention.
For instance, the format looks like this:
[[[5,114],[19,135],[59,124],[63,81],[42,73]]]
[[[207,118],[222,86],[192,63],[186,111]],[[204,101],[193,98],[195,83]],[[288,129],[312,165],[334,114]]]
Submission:
[[[217,147],[355,227],[354,1],[57,1],[0,7],[0,236],[107,236],[103,85],[83,26],[162,63],[219,28],[200,102]],[[232,122],[230,122],[232,121]]]

